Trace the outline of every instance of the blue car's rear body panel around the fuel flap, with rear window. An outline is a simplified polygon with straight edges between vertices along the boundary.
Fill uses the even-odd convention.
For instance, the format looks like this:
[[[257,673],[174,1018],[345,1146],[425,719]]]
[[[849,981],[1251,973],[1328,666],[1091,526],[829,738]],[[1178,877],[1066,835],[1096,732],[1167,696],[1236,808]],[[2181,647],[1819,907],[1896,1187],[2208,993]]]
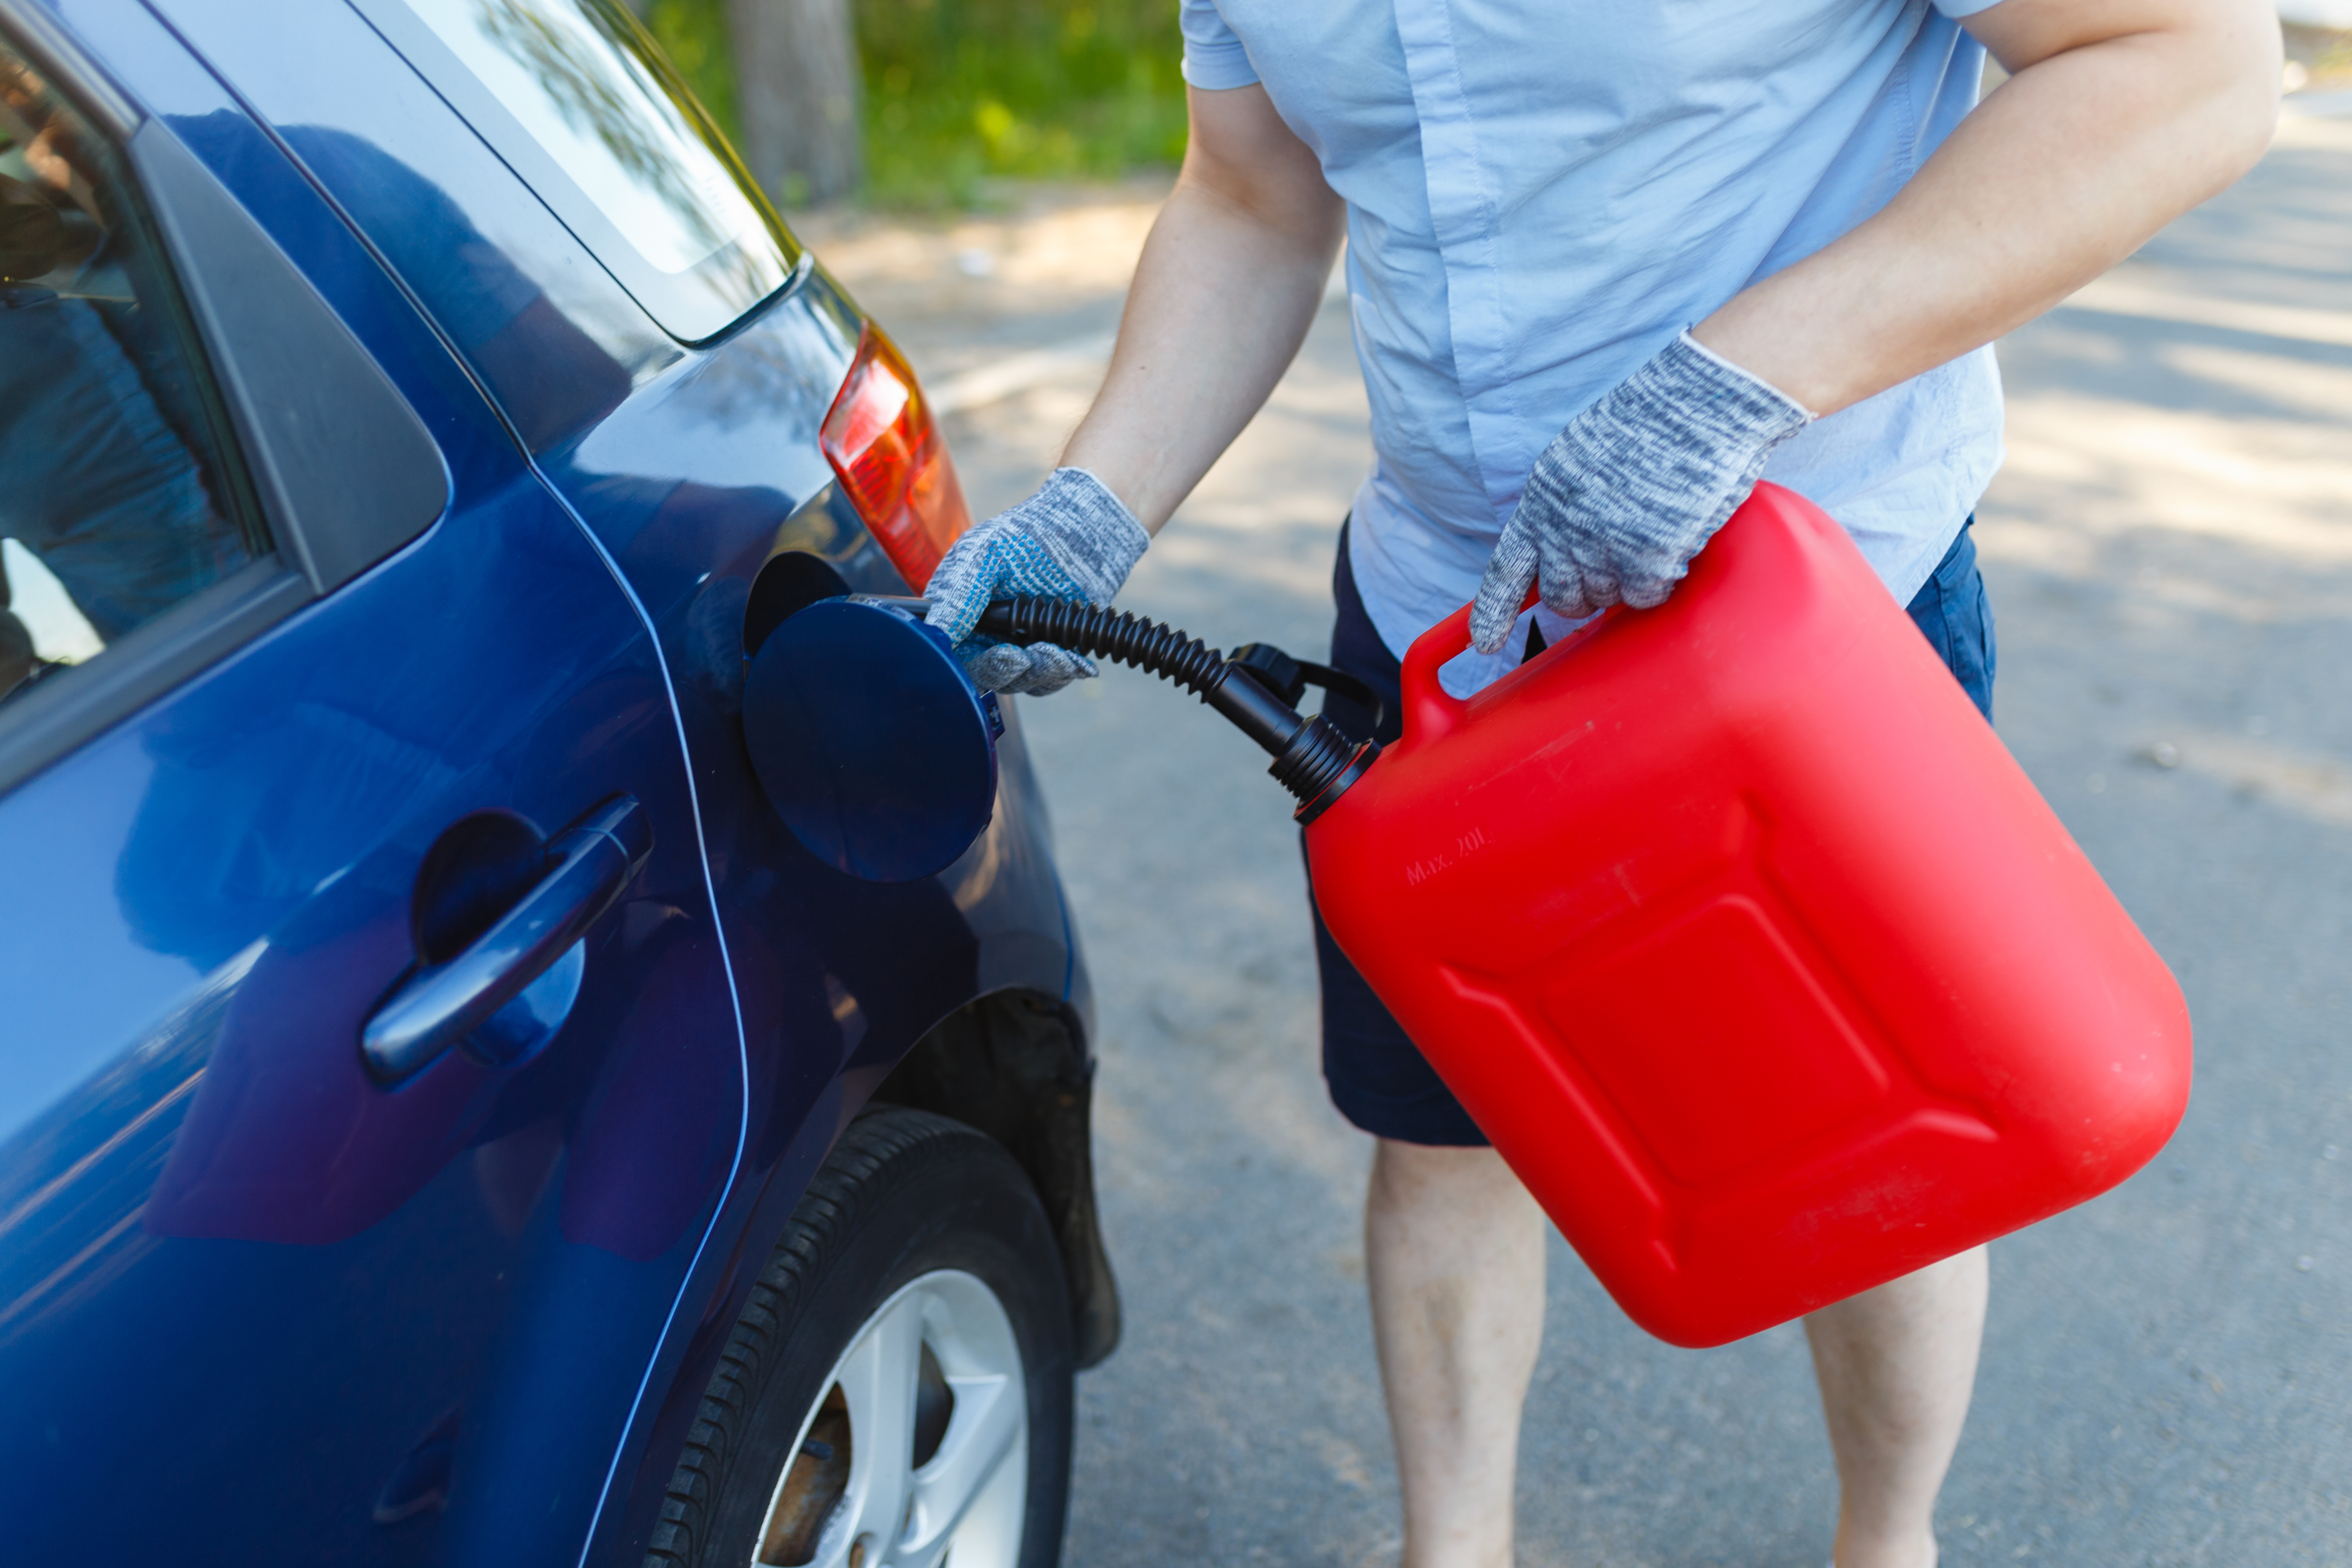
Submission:
[[[61,0],[68,16],[99,2]],[[746,1025],[746,1152],[597,1521],[590,1556],[635,1561],[757,1260],[847,1119],[983,992],[1084,1011],[1018,726],[988,835],[938,877],[847,877],[800,849],[760,795],[739,708],[762,564],[793,557],[856,588],[906,590],[818,444],[863,317],[757,209],[724,148],[699,141],[699,110],[663,87],[666,66],[623,7],[148,5],[442,327],[612,559],[673,675]],[[416,221],[419,181],[437,193],[437,226]],[[485,294],[475,268],[503,282]],[[1082,1131],[1056,1147],[1073,1145]],[[1091,1206],[1080,1218],[1084,1180],[1056,1192],[1094,1248],[1087,1276],[1108,1279]]]

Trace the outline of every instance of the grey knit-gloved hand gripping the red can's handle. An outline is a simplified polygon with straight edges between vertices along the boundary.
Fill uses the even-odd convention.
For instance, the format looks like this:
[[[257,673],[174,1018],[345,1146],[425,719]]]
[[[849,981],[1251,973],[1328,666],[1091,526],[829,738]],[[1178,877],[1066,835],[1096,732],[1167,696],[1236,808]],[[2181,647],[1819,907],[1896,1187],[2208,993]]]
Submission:
[[[1482,654],[1501,649],[1538,581],[1543,602],[1571,621],[1618,599],[1663,604],[1771,449],[1811,418],[1684,331],[1536,458],[1486,562],[1470,639]]]

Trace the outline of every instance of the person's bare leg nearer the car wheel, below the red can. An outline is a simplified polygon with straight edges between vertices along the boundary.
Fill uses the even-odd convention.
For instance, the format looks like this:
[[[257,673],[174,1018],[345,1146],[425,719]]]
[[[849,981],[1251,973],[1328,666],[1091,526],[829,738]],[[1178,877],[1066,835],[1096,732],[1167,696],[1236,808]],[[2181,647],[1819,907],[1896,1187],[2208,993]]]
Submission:
[[[1519,1408],[1543,1340],[1543,1211],[1494,1150],[1383,1138],[1364,1265],[1402,1568],[1508,1568]]]

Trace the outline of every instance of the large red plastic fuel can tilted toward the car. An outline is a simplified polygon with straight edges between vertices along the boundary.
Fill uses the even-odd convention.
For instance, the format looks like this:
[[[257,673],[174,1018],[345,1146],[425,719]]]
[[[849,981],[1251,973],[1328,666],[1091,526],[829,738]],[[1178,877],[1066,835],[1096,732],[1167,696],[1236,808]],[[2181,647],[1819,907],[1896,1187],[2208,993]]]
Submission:
[[[1830,517],[1456,701],[1308,825],[1341,950],[1609,1293],[1722,1345],[2122,1182],[2180,987]]]

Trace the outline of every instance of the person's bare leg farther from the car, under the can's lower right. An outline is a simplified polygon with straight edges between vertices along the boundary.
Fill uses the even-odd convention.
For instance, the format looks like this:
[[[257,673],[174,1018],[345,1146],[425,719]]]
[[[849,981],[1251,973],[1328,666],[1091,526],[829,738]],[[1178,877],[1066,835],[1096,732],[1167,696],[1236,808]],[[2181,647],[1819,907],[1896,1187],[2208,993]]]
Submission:
[[[1837,1568],[1933,1568],[1985,1333],[1985,1248],[1804,1319],[1837,1455]]]

